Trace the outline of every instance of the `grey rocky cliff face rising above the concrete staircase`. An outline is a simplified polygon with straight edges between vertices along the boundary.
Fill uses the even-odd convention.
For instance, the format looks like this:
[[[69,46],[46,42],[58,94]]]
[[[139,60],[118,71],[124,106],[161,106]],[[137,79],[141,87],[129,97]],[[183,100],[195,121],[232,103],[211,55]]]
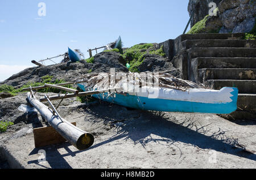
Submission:
[[[209,14],[210,2],[216,3],[218,12],[217,16],[208,16],[204,32],[245,33],[253,29],[256,16],[255,0],[190,0],[188,5],[189,15],[191,16],[192,12],[195,12],[191,26],[203,20]]]

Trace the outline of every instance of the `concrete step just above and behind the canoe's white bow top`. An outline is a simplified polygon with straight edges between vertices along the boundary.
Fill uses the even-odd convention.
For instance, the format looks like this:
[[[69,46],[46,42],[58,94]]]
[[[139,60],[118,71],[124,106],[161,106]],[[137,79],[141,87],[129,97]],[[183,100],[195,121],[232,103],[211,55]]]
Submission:
[[[223,87],[237,87],[239,93],[256,94],[256,80],[210,79],[205,82],[205,85],[216,90],[220,90]]]

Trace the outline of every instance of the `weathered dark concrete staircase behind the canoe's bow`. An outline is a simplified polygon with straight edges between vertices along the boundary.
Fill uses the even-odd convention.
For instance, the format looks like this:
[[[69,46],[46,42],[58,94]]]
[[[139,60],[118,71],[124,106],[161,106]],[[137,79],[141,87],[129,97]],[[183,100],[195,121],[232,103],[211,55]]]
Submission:
[[[160,45],[184,79],[218,90],[239,89],[237,112],[227,118],[256,119],[256,40],[243,37],[242,33],[181,35]]]

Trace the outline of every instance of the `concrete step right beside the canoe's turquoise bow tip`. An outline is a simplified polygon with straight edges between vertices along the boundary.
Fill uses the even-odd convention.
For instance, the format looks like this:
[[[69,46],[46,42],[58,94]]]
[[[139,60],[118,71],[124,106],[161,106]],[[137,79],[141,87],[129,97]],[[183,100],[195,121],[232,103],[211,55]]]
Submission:
[[[256,95],[255,94],[239,94],[237,100],[238,110],[246,110],[256,113]]]

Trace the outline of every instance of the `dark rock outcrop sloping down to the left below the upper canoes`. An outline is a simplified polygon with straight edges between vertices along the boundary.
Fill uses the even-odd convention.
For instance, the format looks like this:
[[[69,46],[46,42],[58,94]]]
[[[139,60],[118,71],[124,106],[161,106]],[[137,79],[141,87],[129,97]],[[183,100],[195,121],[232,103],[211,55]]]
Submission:
[[[121,54],[115,52],[99,53],[95,55],[94,63],[87,63],[85,60],[82,60],[77,63],[59,63],[51,66],[26,68],[26,70],[1,82],[0,85],[7,84],[19,88],[28,82],[40,82],[42,77],[46,75],[52,76],[52,80],[63,79],[66,82],[72,82],[82,74],[110,72],[110,68],[115,68],[115,71],[128,72],[128,68],[119,61],[122,62]]]

